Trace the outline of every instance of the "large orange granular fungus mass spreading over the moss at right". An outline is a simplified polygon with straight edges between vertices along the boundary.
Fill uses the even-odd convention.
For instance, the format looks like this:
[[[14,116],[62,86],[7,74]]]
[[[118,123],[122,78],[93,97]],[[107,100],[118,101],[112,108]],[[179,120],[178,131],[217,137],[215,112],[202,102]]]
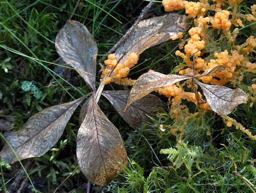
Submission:
[[[256,21],[256,5],[251,6],[251,14],[237,13],[238,4],[240,4],[241,1],[242,0],[213,0],[213,2],[216,2],[215,4],[209,4],[209,1],[203,0],[199,0],[199,2],[188,2],[185,0],[162,1],[165,11],[185,9],[188,18],[194,18],[194,27],[188,31],[190,38],[180,39],[179,50],[175,52],[175,55],[180,56],[184,61],[176,70],[177,73],[180,75],[192,74],[193,59],[189,57],[196,52],[194,62],[195,75],[220,64],[227,66],[230,70],[228,73],[200,77],[199,79],[204,83],[225,85],[230,82],[232,85],[239,88],[244,78],[244,71],[256,73],[256,64],[251,63],[251,58],[248,56],[256,52],[256,37],[252,35],[240,45],[235,43],[237,42],[236,38],[239,37],[239,31],[237,30],[244,27],[245,22],[247,22],[246,25],[248,25],[248,21]],[[224,7],[226,10],[223,10]],[[213,16],[206,15],[208,12],[211,12]],[[234,33],[212,44],[208,48],[204,48],[204,46],[216,40],[213,36],[214,34],[223,37],[231,32]],[[200,49],[202,50],[199,51]],[[204,56],[203,54],[208,57],[201,58]],[[256,78],[253,81],[256,81]],[[183,87],[185,85],[187,88],[191,88],[189,81],[185,81],[182,85],[176,83],[175,85],[158,89],[158,92],[167,97],[171,97],[172,102],[175,101],[176,104],[178,98],[187,99],[196,103],[195,94],[193,92],[184,91]],[[255,94],[256,99],[256,84],[252,84],[250,90]],[[186,107],[181,104],[172,105],[171,113],[178,115],[179,113],[177,114],[177,112],[181,110],[184,111],[185,108]],[[210,109],[207,103],[202,105],[201,108]],[[182,116],[182,114],[179,115]],[[227,125],[234,125],[232,121],[231,119],[227,121]],[[240,129],[243,130],[242,127]]]

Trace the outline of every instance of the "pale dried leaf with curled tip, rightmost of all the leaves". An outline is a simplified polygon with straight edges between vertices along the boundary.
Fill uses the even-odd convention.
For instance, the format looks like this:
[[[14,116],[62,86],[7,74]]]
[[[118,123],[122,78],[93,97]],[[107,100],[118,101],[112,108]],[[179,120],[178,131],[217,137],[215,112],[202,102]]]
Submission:
[[[208,104],[216,113],[227,115],[231,113],[236,106],[246,103],[248,100],[246,93],[241,89],[230,89],[225,86],[208,85],[201,83],[196,79],[195,81],[202,88]]]

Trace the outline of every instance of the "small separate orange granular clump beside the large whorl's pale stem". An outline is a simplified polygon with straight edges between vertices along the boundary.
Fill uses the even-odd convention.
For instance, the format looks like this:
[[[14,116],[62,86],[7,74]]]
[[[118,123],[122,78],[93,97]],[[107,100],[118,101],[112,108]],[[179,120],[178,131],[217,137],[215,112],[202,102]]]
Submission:
[[[115,82],[117,84],[122,84],[125,86],[132,86],[135,81],[125,77],[129,74],[130,68],[134,67],[134,65],[137,64],[138,60],[139,55],[136,53],[131,53],[128,56],[128,59],[125,60],[123,64],[121,64],[117,63],[115,54],[109,54],[108,60],[104,61],[106,66],[105,69],[102,71],[100,81],[104,81],[104,84]]]

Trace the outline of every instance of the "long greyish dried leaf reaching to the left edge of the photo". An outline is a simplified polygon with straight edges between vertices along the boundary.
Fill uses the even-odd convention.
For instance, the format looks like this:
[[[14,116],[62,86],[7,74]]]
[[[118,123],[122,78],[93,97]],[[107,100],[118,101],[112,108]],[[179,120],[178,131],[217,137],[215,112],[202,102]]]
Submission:
[[[6,140],[19,159],[42,156],[54,146],[82,100],[84,97],[44,109],[30,117],[20,131],[8,135]],[[4,145],[0,156],[2,161],[8,163],[18,161],[8,144]]]

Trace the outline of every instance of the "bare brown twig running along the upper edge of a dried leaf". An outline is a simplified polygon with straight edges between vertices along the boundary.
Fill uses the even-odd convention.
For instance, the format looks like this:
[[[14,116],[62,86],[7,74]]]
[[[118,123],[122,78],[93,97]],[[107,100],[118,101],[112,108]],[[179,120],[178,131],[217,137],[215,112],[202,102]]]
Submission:
[[[108,54],[113,53],[116,51],[116,48],[119,47],[124,40],[130,35],[130,33],[134,30],[134,28],[138,25],[138,23],[143,19],[144,15],[148,12],[150,7],[154,4],[154,2],[150,2],[146,7],[143,8],[143,10],[140,13],[140,16],[138,17],[137,21],[132,25],[132,27],[124,34],[124,36],[116,43],[115,46],[113,46],[105,56],[102,57],[102,60],[105,60],[107,58]]]

